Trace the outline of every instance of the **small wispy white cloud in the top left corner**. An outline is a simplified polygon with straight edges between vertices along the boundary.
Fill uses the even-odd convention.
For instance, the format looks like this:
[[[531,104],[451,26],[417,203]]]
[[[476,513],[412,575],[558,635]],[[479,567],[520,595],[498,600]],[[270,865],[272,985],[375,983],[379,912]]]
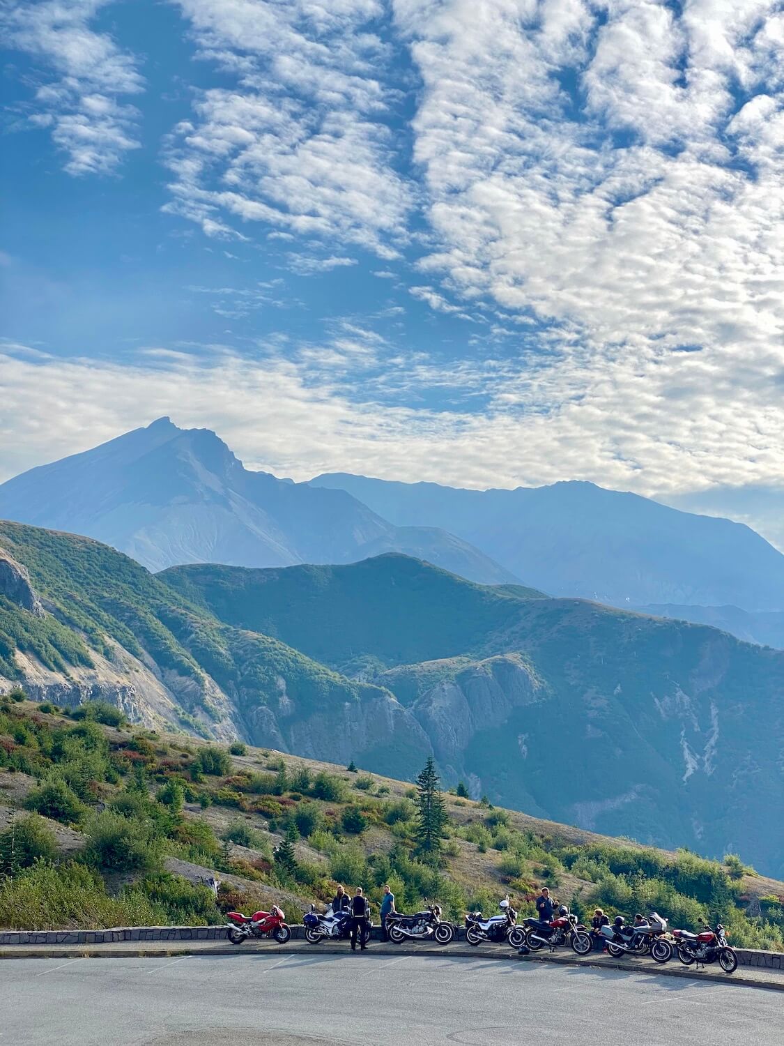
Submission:
[[[49,78],[26,107],[28,120],[49,128],[71,175],[109,174],[138,149],[138,111],[119,99],[143,90],[136,59],[106,32],[90,28],[108,0],[10,0],[0,28]]]

